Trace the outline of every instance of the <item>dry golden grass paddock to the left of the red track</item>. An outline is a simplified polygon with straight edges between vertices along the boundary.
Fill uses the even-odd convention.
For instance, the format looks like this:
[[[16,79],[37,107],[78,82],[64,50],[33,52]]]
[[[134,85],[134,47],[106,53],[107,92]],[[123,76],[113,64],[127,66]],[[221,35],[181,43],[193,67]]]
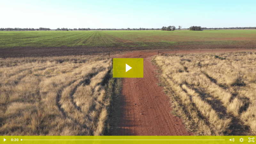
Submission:
[[[0,61],[1,135],[102,135],[110,59]]]

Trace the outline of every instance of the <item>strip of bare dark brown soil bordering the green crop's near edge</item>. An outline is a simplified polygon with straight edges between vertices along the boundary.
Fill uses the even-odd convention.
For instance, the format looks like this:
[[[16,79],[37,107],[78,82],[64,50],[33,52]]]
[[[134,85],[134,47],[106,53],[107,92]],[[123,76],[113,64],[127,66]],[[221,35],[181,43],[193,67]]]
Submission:
[[[58,56],[78,56],[78,57],[87,57],[89,58],[89,53],[91,56],[99,56],[104,55],[110,52],[110,55],[113,54],[123,54],[132,51],[145,51],[145,50],[152,50],[156,51],[170,51],[170,50],[180,50],[186,53],[198,51],[202,49],[202,52],[217,52],[217,51],[247,51],[249,49],[255,50],[255,44],[248,43],[248,44],[235,44],[235,45],[227,45],[227,44],[188,44],[188,45],[169,45],[164,46],[162,44],[148,47],[148,46],[113,46],[113,47],[106,47],[106,46],[95,46],[95,47],[88,47],[88,46],[78,46],[78,47],[42,47],[42,48],[35,48],[35,47],[15,47],[15,48],[7,48],[7,49],[0,49],[0,59],[5,58],[28,58],[28,57],[58,57]],[[211,49],[211,51],[210,51]]]

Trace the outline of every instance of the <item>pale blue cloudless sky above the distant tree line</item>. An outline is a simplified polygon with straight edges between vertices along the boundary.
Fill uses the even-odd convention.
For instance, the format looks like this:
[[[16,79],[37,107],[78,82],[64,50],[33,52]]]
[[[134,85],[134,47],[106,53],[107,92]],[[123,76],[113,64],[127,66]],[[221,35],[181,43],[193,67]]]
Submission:
[[[256,27],[256,2],[1,0],[0,28]]]

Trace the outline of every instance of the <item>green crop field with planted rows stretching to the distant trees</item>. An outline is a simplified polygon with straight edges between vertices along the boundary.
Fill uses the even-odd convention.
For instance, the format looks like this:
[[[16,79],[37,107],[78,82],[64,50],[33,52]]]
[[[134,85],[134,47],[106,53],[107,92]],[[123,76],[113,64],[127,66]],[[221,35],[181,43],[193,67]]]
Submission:
[[[1,31],[0,48],[76,46],[255,45],[255,30]]]

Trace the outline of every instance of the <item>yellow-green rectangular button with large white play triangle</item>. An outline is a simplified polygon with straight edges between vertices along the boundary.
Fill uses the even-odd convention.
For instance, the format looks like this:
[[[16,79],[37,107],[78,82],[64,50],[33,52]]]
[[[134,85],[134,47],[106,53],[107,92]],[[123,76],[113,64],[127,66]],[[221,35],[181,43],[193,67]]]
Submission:
[[[113,59],[113,77],[143,77],[143,59],[121,58]]]

